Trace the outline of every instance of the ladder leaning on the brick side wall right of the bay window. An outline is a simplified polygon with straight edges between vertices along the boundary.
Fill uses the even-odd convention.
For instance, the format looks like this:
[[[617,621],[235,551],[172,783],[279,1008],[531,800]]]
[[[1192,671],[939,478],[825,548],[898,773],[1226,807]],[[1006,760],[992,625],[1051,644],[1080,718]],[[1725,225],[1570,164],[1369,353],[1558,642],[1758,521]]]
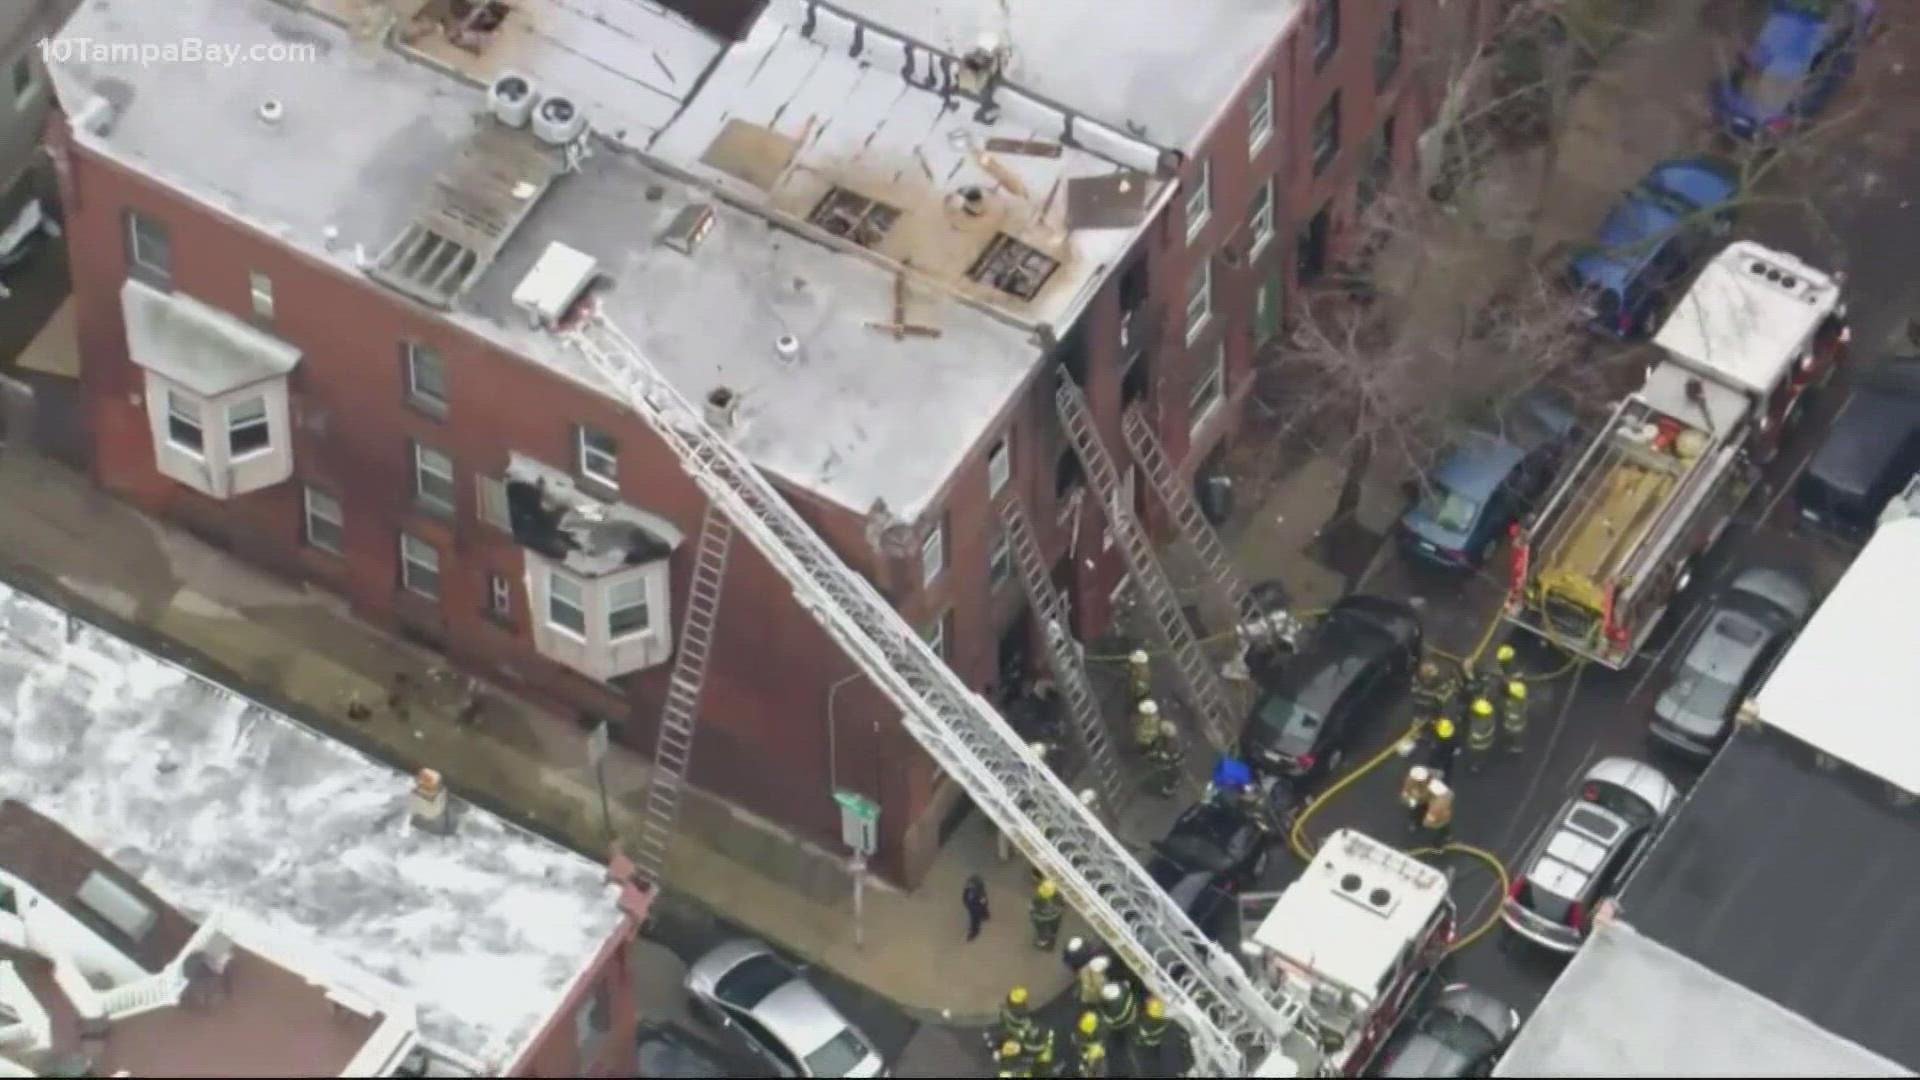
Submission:
[[[693,767],[693,730],[699,721],[701,690],[707,686],[707,659],[712,653],[714,623],[720,619],[720,586],[726,555],[733,546],[733,523],[714,503],[701,517],[701,538],[693,546],[693,580],[687,584],[687,613],[680,621],[674,671],[666,678],[666,705],[660,734],[653,744],[653,776],[639,815],[634,869],[659,888],[666,880],[666,849],[680,821],[687,771]]]

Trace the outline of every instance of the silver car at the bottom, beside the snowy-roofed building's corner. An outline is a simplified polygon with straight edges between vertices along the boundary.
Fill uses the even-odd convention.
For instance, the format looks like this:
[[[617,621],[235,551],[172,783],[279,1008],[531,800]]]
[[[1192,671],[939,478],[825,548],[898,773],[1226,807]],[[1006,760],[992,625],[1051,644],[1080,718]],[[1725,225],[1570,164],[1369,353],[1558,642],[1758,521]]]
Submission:
[[[687,967],[685,986],[699,1013],[737,1034],[772,1074],[887,1074],[872,1040],[760,942],[714,947]]]

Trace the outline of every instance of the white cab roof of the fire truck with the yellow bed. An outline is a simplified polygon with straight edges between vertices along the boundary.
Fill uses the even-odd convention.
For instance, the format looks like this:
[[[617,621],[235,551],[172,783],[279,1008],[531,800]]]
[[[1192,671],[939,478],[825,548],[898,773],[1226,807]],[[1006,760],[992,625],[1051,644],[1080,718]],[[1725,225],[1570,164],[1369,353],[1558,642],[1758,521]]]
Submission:
[[[1768,394],[1839,306],[1839,282],[1753,240],[1728,244],[1699,277],[1653,344],[1753,394]]]

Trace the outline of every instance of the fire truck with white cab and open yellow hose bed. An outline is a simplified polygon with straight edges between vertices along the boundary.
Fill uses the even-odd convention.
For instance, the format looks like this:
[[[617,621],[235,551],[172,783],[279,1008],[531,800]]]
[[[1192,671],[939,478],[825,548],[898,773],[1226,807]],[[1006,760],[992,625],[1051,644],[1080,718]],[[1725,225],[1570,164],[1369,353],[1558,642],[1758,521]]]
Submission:
[[[1841,281],[1736,242],[1653,338],[1659,357],[1513,528],[1505,619],[1609,669],[1638,655],[1847,352]]]

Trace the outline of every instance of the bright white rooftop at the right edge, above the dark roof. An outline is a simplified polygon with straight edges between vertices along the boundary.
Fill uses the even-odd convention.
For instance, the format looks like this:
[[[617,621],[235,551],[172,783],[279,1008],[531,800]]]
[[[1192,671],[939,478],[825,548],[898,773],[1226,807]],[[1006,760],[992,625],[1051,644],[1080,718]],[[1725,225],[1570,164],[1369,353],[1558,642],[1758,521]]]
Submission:
[[[1920,794],[1920,519],[1874,530],[1759,694],[1761,721]]]

